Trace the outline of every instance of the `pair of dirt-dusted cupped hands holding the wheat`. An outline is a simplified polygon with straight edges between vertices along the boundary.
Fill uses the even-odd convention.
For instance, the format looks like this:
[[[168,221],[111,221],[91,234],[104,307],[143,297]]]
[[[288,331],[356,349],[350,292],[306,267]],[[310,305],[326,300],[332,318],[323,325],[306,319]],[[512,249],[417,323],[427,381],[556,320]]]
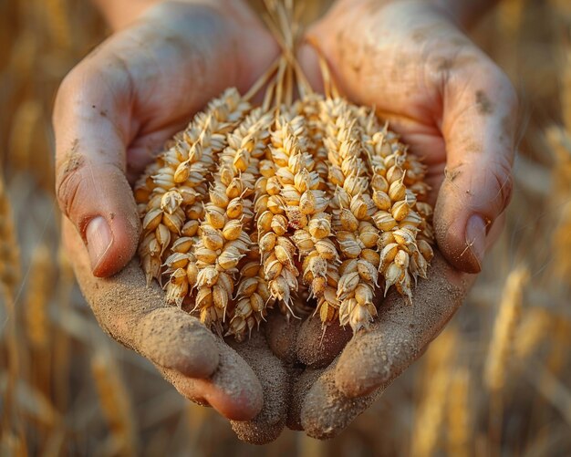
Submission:
[[[376,107],[428,166],[438,243],[429,278],[413,290],[412,305],[379,291],[379,316],[352,338],[335,326],[324,335],[317,317],[288,323],[273,314],[249,341],[224,341],[165,306],[132,258],[140,222],[130,184],[193,113],[224,88],[244,93],[280,52],[247,5],[168,1],[135,20],[119,15],[119,31],[59,89],[64,243],[99,324],[184,397],[231,420],[245,441],[272,441],[285,426],[317,438],[347,427],[438,335],[501,229],[516,97],[452,9],[442,1],[339,0],[299,51],[317,90],[316,48],[342,93]]]

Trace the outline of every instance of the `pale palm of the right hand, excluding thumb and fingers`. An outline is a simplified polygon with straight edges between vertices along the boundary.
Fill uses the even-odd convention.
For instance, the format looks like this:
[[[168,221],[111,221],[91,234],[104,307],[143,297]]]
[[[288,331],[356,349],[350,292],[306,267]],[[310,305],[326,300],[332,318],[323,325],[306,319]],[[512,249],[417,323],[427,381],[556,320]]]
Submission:
[[[410,151],[420,155],[434,204],[447,162],[444,129],[452,128],[454,114],[446,113],[449,124],[444,124],[448,107],[443,89],[454,71],[483,53],[428,5],[385,5],[375,15],[363,15],[358,8],[334,10],[327,19],[310,36],[327,55],[339,88],[348,99],[374,106]],[[331,24],[337,21],[354,26],[336,34]],[[310,78],[317,80],[313,73]]]

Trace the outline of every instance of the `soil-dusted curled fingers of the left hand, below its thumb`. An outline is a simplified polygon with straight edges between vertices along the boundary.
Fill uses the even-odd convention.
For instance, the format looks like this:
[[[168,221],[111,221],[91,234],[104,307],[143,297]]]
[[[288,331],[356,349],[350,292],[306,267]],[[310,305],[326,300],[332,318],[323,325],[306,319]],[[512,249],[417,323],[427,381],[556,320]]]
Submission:
[[[277,438],[285,425],[289,379],[261,333],[231,347],[196,317],[166,306],[161,287],[146,286],[137,259],[117,275],[99,278],[91,273],[88,253],[67,219],[63,234],[81,291],[112,338],[149,358],[184,397],[230,419],[242,440]]]

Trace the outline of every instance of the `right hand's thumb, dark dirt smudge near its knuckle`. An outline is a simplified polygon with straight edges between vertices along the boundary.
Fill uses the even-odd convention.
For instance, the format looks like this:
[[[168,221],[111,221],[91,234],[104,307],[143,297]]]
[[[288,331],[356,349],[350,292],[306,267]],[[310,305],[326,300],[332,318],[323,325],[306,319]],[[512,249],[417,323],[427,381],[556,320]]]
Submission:
[[[434,212],[442,254],[479,273],[486,235],[512,192],[517,98],[504,73],[479,50],[442,85],[446,170]]]

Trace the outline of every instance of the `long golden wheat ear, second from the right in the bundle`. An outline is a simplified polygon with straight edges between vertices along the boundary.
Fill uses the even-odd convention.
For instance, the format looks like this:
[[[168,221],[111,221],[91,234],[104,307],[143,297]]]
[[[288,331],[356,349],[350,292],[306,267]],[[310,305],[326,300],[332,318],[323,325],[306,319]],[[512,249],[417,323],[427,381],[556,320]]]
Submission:
[[[343,99],[322,103],[324,144],[331,163],[328,182],[337,186],[333,195],[333,227],[342,255],[337,282],[339,322],[354,331],[368,327],[377,315],[373,302],[378,286],[379,230],[371,222],[374,203],[369,195],[367,166],[354,111]],[[371,263],[372,261],[372,263]]]

